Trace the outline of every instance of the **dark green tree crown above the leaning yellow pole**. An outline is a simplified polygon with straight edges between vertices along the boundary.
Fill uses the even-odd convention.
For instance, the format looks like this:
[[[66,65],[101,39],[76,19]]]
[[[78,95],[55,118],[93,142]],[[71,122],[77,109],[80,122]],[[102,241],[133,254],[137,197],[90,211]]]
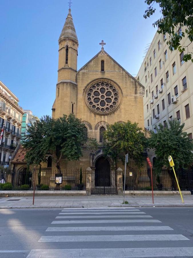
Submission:
[[[149,140],[150,148],[155,150],[155,168],[159,173],[163,166],[169,167],[168,156],[171,155],[175,168],[185,168],[193,162],[193,143],[186,132],[182,132],[184,123],[180,125],[178,120],[169,121],[166,127],[156,126],[157,133],[152,132]]]

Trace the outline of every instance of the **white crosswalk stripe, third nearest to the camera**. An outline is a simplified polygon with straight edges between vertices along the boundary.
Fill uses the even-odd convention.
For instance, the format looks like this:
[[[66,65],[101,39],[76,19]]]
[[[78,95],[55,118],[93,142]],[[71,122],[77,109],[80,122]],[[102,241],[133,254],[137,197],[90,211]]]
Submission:
[[[168,226],[104,226],[104,227],[49,227],[46,231],[141,231],[173,230]]]

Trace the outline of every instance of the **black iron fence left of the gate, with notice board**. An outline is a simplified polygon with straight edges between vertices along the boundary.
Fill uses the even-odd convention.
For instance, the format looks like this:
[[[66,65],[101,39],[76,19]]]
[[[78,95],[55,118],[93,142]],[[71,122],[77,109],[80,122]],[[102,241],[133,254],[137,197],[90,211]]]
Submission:
[[[51,169],[0,171],[0,190],[33,190],[34,181],[35,190],[85,190],[86,171],[80,169],[61,170],[61,172]]]

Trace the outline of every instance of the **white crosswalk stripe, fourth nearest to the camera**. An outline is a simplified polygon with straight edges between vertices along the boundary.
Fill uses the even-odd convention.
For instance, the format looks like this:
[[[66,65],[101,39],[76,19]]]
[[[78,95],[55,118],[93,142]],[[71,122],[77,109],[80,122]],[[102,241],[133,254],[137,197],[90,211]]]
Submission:
[[[54,220],[51,224],[83,224],[83,223],[162,223],[160,220]]]

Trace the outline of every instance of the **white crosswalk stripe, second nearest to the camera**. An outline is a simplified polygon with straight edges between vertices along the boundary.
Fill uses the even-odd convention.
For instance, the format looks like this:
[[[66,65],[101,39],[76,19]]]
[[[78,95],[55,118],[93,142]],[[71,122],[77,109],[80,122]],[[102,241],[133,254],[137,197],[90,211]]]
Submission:
[[[103,242],[103,241],[176,241],[189,240],[183,235],[92,235],[92,236],[42,236],[38,242]]]

